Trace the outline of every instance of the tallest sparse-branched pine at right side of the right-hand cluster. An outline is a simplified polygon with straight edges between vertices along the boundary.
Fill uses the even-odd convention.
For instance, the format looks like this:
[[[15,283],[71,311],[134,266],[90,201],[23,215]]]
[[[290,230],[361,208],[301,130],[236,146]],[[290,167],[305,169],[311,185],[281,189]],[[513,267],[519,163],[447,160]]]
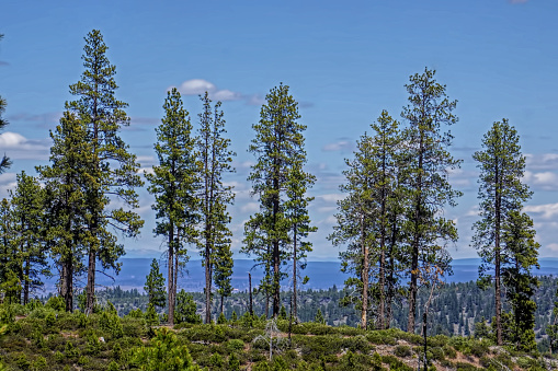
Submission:
[[[407,331],[414,332],[417,315],[417,291],[420,277],[429,267],[448,271],[451,257],[445,244],[457,240],[457,229],[452,220],[442,217],[446,205],[455,206],[459,192],[448,182],[448,171],[459,166],[447,151],[453,136],[442,131],[442,126],[457,123],[452,114],[457,102],[449,101],[446,86],[434,79],[435,71],[410,77],[406,85],[409,105],[403,107],[401,117],[409,124],[405,132],[408,154],[406,186],[410,207],[405,233],[408,235],[409,252],[409,316]],[[423,281],[428,277],[422,277]]]

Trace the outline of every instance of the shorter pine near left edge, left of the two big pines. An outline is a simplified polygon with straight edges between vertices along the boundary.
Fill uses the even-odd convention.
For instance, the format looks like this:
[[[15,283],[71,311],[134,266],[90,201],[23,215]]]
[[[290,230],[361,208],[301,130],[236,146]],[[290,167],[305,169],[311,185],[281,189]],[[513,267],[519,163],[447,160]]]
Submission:
[[[44,285],[42,278],[50,276],[44,244],[44,190],[36,178],[21,172],[16,176],[15,190],[10,192],[10,195],[13,229],[16,235],[12,243],[18,246],[23,304],[26,304],[30,294]]]

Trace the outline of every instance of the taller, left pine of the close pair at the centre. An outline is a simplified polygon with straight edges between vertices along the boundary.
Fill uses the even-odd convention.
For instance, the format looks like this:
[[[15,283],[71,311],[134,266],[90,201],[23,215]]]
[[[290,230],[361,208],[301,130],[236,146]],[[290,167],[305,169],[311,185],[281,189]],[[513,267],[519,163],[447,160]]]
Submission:
[[[252,195],[258,195],[260,212],[250,217],[244,225],[242,252],[255,255],[257,264],[264,267],[261,287],[273,300],[273,316],[281,308],[281,280],[285,276],[281,265],[289,258],[287,246],[292,224],[285,212],[288,179],[294,169],[306,163],[303,131],[298,123],[298,103],[280,84],[265,96],[260,111],[260,121],[252,125],[255,138],[249,152],[257,158],[248,179],[252,182]],[[304,181],[303,183],[308,183]]]

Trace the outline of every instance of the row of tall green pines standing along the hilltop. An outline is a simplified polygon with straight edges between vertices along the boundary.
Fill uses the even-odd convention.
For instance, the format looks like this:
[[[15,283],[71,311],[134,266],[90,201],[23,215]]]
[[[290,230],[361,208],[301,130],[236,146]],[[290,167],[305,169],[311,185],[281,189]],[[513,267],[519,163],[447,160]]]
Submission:
[[[130,119],[124,111],[127,104],[115,96],[116,68],[99,31],[84,40],[84,71],[70,85],[75,101],[66,102],[50,132],[49,165],[37,166],[37,176],[19,174],[10,199],[0,205],[0,290],[7,302],[29,303],[42,286],[41,277],[56,275],[66,310],[73,309],[75,294],[84,287],[83,311],[93,313],[96,274],[117,274],[125,253],[115,233],[134,237],[144,224],[135,212],[136,189],[144,185],[139,163],[119,136]],[[346,179],[340,186],[345,198],[338,202],[338,223],[330,235],[334,245],[346,247],[340,254],[342,269],[352,275],[339,302],[357,311],[362,328],[397,325],[415,332],[420,313],[433,313],[436,290],[451,274],[446,246],[458,237],[455,223],[444,218],[444,210],[460,196],[449,184],[451,172],[462,163],[449,152],[448,126],[458,121],[453,113],[457,102],[428,68],[411,76],[406,90],[401,123],[383,111],[371,134],[357,141],[354,156],[345,160]],[[235,171],[235,153],[220,102],[214,104],[207,93],[201,101],[194,128],[178,90],[168,92],[153,146],[159,164],[145,174],[155,196],[153,233],[166,240],[168,269],[164,282],[153,260],[146,282],[148,310],[167,308],[170,324],[176,318],[175,305],[186,298],[178,290],[178,275],[189,259],[187,248],[203,256],[206,323],[212,321],[213,294],[220,297],[223,313],[232,292],[227,210],[234,192],[224,177]],[[0,101],[0,114],[3,109]],[[266,317],[281,315],[281,282],[287,277],[293,283],[288,306],[295,318],[301,317],[297,293],[306,280],[301,271],[312,248],[309,235],[316,231],[307,192],[316,177],[306,171],[306,126],[299,118],[288,86],[273,88],[259,123],[252,125],[254,138],[248,149],[255,158],[248,181],[260,208],[244,223],[241,252],[263,268],[264,278],[253,288],[263,298]],[[535,347],[533,298],[539,285],[531,271],[538,265],[539,246],[533,221],[522,211],[532,196],[522,183],[525,156],[506,119],[492,125],[481,146],[474,154],[480,170],[480,220],[472,245],[483,260],[480,283],[494,290],[491,332],[498,345],[528,351]],[[8,164],[8,159],[0,163]],[[48,257],[55,262],[52,267]],[[292,270],[285,271],[286,266]],[[84,282],[78,283],[81,279]],[[422,301],[424,290],[428,297]],[[407,321],[396,314],[401,313],[398,308],[405,308]],[[550,326],[558,328],[556,323]]]

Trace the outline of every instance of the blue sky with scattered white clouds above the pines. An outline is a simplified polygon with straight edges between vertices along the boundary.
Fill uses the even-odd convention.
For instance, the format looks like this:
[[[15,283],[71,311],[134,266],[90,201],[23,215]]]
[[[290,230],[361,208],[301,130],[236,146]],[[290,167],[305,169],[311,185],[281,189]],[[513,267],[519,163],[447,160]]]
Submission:
[[[0,175],[0,197],[18,173],[35,175],[48,164],[54,130],[68,85],[83,72],[83,37],[100,30],[116,66],[116,97],[132,118],[122,137],[143,171],[157,164],[155,128],[167,91],[176,86],[194,126],[207,90],[223,101],[226,128],[237,153],[230,207],[235,258],[243,223],[258,211],[247,181],[254,156],[248,153],[265,94],[287,84],[299,103],[308,155],[317,176],[310,218],[309,260],[335,260],[340,248],[327,240],[343,197],[344,159],[383,109],[399,119],[407,105],[409,77],[436,70],[436,80],[457,100],[459,121],[451,127],[449,151],[463,159],[451,174],[463,192],[444,217],[459,240],[454,258],[476,257],[471,225],[478,220],[478,170],[471,158],[493,121],[508,118],[521,137],[527,165],[524,182],[533,198],[540,256],[558,256],[558,2],[555,0],[422,1],[5,1],[0,12],[0,95],[8,101],[0,152],[13,165]],[[138,190],[146,221],[138,239],[122,239],[128,257],[158,257],[153,201]],[[192,251],[192,258],[198,253]]]

